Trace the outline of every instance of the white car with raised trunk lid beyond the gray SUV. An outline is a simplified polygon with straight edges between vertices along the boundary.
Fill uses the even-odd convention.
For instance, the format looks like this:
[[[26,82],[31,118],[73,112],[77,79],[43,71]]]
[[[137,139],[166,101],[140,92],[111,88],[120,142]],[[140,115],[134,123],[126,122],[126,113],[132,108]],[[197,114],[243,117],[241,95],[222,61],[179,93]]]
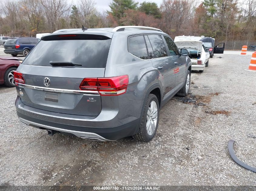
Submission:
[[[192,70],[204,72],[204,68],[209,65],[210,54],[201,41],[181,40],[176,41],[175,44],[179,49],[187,49],[189,51],[188,56],[192,62]]]

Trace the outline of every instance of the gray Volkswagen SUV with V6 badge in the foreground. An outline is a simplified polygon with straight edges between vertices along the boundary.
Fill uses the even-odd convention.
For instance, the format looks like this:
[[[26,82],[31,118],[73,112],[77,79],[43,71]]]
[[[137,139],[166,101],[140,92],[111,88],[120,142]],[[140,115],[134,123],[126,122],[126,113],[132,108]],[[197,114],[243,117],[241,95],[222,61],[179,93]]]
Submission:
[[[17,115],[49,135],[150,141],[160,108],[188,94],[188,54],[151,27],[55,31],[14,72]]]

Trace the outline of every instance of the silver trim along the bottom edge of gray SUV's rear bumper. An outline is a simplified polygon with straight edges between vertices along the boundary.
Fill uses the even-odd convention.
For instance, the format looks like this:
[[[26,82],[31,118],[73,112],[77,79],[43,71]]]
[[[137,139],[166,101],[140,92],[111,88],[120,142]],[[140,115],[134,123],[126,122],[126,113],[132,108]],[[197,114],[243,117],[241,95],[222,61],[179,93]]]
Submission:
[[[68,132],[68,133],[72,133],[73,135],[79,137],[79,138],[83,138],[83,139],[90,139],[90,140],[96,140],[96,141],[112,141],[112,140],[108,140],[104,137],[101,137],[100,135],[96,134],[96,133],[91,133],[91,132],[83,132],[83,131],[73,131],[73,130],[68,130],[68,129],[61,129],[61,128],[57,128],[57,127],[52,127],[52,126],[47,126],[47,125],[42,125],[39,123],[35,123],[32,121],[28,121],[26,119],[23,118],[19,118],[19,120],[22,123],[25,123],[26,125],[30,126],[35,125],[35,126],[39,126],[39,127],[43,127],[45,129],[52,129],[52,130],[56,130],[56,131],[61,131],[61,132]],[[115,141],[115,140],[113,140]]]

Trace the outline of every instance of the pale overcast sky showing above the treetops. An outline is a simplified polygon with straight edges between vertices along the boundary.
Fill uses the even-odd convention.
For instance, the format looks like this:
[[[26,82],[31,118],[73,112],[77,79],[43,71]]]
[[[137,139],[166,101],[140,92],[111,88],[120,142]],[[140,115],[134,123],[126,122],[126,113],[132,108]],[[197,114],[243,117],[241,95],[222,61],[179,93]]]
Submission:
[[[0,0],[2,1],[2,0]],[[109,8],[109,4],[110,2],[112,2],[112,0],[94,0],[95,3],[96,3],[96,8],[98,9],[98,11],[106,11],[106,10],[110,10]],[[161,5],[161,3],[163,2],[163,0],[135,0],[135,2],[143,2],[143,1],[146,1],[146,2],[155,2],[158,4],[158,7]],[[68,0],[68,2],[72,2],[73,4],[76,4],[77,0]]]

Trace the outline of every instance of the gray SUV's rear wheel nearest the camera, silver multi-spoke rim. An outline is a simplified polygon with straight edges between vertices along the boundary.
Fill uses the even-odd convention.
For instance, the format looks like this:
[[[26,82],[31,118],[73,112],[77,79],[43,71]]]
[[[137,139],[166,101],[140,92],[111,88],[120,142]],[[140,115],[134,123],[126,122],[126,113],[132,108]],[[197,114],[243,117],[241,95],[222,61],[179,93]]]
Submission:
[[[150,112],[149,108],[152,107],[154,108],[154,111]],[[159,121],[159,110],[160,109],[157,97],[154,94],[149,94],[142,109],[139,130],[135,135],[132,136],[134,139],[138,141],[148,142],[155,136]],[[155,113],[156,111],[157,113]],[[153,124],[155,126],[155,129],[154,126],[149,124]],[[153,128],[153,130],[151,127]]]

